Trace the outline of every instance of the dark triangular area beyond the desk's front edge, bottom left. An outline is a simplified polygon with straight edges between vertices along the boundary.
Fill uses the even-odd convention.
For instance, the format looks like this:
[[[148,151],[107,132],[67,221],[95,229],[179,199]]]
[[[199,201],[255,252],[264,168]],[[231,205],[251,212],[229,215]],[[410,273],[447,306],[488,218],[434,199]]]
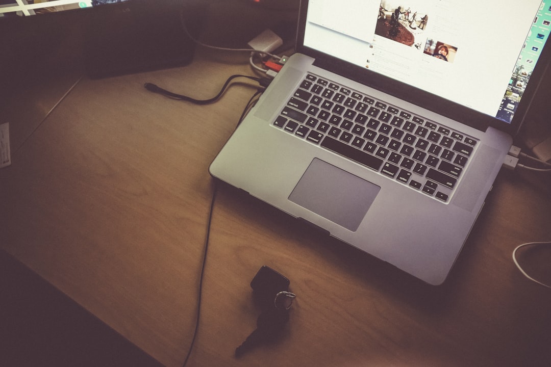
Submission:
[[[161,366],[2,250],[0,365]]]

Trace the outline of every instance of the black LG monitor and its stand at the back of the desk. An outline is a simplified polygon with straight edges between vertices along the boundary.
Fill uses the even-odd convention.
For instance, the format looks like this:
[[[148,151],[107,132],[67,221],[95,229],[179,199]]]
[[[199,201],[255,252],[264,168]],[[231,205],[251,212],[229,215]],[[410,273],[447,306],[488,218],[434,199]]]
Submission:
[[[78,13],[82,19],[79,32],[83,35],[83,63],[91,78],[102,78],[190,63],[194,43],[186,30],[196,35],[205,3],[204,0],[0,0],[0,22],[2,18]]]

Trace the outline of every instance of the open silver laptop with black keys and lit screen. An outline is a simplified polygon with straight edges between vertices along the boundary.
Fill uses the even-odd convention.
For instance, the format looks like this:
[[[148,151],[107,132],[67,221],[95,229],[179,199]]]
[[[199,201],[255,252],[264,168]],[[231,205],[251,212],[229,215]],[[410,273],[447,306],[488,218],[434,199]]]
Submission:
[[[210,174],[441,284],[547,68],[549,21],[547,0],[302,0],[296,53]]]

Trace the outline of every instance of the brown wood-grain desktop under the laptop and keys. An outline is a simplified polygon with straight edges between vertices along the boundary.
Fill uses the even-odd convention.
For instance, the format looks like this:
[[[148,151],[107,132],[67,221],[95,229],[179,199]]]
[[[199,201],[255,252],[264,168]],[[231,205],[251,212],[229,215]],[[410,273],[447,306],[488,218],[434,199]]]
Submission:
[[[194,106],[142,85],[208,98],[250,74],[245,62],[200,50],[188,67],[84,77],[0,169],[1,248],[166,366],[182,364],[195,327],[207,168],[255,87]],[[551,238],[548,183],[501,174],[437,288],[219,185],[188,365],[549,365],[551,292],[511,259],[518,244]],[[249,282],[262,265],[298,297],[280,341],[235,359],[256,326]]]

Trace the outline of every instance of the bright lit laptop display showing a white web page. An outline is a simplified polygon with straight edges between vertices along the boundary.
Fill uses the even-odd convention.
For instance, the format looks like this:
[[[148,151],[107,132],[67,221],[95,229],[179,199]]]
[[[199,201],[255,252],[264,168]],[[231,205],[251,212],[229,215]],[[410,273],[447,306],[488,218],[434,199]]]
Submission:
[[[550,5],[310,0],[304,46],[510,123],[550,34]]]

